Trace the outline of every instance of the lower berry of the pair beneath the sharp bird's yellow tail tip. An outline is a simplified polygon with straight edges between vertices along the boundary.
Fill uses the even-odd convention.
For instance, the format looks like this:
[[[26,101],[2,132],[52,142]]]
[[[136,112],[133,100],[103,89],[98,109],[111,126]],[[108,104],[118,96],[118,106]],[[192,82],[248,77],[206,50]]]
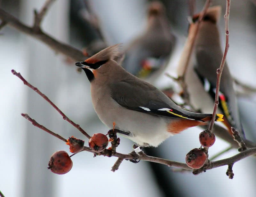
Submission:
[[[199,169],[204,166],[206,161],[206,154],[199,148],[194,148],[186,155],[186,163],[188,167]]]

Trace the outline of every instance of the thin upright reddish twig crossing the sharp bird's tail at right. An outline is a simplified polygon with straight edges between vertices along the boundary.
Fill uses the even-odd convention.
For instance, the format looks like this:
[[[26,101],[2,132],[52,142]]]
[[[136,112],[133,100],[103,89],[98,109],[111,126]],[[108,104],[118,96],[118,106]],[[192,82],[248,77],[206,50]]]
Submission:
[[[216,84],[216,94],[215,94],[215,102],[214,102],[214,108],[213,108],[213,113],[212,113],[212,121],[209,125],[209,130],[212,130],[214,121],[215,121],[215,116],[217,113],[217,108],[219,105],[219,91],[220,91],[220,78],[222,74],[222,70],[225,65],[225,60],[227,57],[228,53],[228,48],[229,48],[229,29],[228,29],[228,22],[229,22],[229,11],[230,11],[230,0],[227,0],[227,7],[226,7],[226,14],[224,16],[225,18],[225,33],[226,33],[226,46],[225,46],[225,51],[221,60],[220,68],[217,69],[217,84]]]

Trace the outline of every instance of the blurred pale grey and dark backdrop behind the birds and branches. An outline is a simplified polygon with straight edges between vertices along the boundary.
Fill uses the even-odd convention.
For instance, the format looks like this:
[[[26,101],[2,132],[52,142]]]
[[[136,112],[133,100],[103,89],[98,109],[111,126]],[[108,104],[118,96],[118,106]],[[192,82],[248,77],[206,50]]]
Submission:
[[[33,9],[40,10],[44,0],[2,0],[1,8],[16,16],[25,24],[33,24]],[[101,34],[108,45],[123,43],[126,46],[146,26],[146,0],[56,0],[44,17],[42,29],[58,41],[68,43],[78,49],[90,45],[101,38],[77,18],[81,4],[89,6],[98,17]],[[188,34],[188,1],[162,1],[166,7],[172,31],[178,43],[172,57],[172,65],[166,72],[176,67]],[[232,74],[243,83],[256,87],[256,6],[253,1],[231,1],[230,48],[227,61]],[[222,6],[225,13],[226,1],[213,0],[213,5]],[[199,12],[204,1],[196,1]],[[87,7],[88,8],[88,7]],[[88,9],[89,9],[88,8]],[[219,27],[224,50],[224,18]],[[90,29],[91,28],[91,29]],[[80,61],[82,61],[81,59]],[[115,172],[110,169],[116,158],[98,156],[82,152],[72,157],[73,168],[65,175],[56,175],[47,169],[52,153],[57,150],[69,152],[62,141],[34,127],[21,117],[28,113],[31,118],[64,138],[74,135],[87,139],[57,113],[38,94],[24,86],[11,69],[20,72],[25,79],[47,95],[71,120],[80,124],[90,135],[107,133],[108,128],[100,122],[92,108],[90,84],[84,73],[79,73],[75,61],[58,55],[44,43],[24,35],[9,27],[1,30],[1,102],[0,110],[0,190],[8,197],[16,196],[255,196],[256,159],[249,157],[234,164],[235,177],[225,175],[227,166],[208,170],[198,176],[192,173],[173,172],[172,168],[161,164],[140,161],[138,164],[124,161]],[[159,86],[172,86],[172,81],[161,76]],[[255,97],[240,97],[244,129],[247,138],[256,142]],[[199,147],[198,128],[192,128],[167,139],[157,148],[146,151],[173,161],[185,162],[185,155]],[[130,153],[132,141],[121,137],[117,151]],[[220,138],[209,150],[210,157],[229,145]],[[221,158],[237,154],[231,150]]]

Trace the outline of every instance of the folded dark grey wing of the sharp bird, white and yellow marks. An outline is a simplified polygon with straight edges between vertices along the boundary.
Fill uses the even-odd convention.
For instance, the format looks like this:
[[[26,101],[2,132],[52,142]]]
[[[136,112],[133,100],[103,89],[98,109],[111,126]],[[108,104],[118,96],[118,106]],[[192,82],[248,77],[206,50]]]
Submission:
[[[212,114],[200,114],[177,106],[162,91],[140,80],[125,80],[111,86],[112,98],[122,107],[147,114],[198,120]]]

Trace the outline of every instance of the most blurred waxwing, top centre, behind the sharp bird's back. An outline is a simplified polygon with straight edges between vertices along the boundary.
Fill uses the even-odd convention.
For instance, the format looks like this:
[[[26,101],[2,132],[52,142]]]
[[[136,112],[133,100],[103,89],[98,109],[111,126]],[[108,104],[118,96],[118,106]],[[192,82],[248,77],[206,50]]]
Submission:
[[[128,45],[123,67],[139,78],[156,78],[154,76],[164,70],[165,60],[170,57],[174,45],[175,37],[164,5],[154,1],[149,5],[147,29]]]

